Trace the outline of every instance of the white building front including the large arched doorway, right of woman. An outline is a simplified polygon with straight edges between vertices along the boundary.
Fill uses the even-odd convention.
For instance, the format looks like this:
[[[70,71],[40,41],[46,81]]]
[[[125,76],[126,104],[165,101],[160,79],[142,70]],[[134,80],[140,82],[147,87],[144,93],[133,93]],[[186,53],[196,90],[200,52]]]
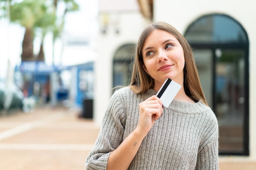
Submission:
[[[175,26],[193,48],[204,94],[220,124],[220,155],[256,160],[252,2],[154,2],[154,20]]]

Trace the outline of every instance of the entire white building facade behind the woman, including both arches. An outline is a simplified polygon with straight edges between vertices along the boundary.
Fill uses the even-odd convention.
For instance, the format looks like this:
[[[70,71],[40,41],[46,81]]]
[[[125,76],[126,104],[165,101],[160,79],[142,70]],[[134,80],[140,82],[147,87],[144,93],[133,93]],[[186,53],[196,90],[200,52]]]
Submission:
[[[130,5],[127,9],[126,4],[126,10],[100,8],[101,46],[94,65],[94,120],[99,125],[112,88],[128,84],[133,48],[147,22],[138,3]],[[207,102],[220,124],[220,155],[238,155],[222,160],[256,161],[256,92],[252,88],[256,85],[256,25],[252,21],[256,11],[252,2],[155,0],[152,14],[154,21],[177,28],[193,48]]]

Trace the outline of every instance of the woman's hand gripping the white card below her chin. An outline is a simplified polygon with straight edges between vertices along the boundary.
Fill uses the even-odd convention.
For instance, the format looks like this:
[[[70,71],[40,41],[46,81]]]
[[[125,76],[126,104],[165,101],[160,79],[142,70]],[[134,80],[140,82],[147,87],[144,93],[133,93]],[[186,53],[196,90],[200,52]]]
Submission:
[[[139,104],[139,122],[135,130],[146,136],[162,113],[162,101],[157,96],[151,96],[141,102]]]

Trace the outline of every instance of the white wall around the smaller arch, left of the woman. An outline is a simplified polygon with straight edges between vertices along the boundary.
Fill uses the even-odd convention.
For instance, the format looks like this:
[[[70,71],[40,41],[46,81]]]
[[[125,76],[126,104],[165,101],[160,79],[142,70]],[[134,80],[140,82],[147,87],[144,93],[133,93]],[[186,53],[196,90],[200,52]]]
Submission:
[[[144,18],[139,11],[100,13],[108,18],[106,33],[99,33],[98,58],[95,61],[94,121],[101,125],[112,92],[112,64],[116,50],[123,44],[137,43],[144,28]],[[104,16],[103,16],[104,15]],[[100,30],[102,23],[100,24]],[[115,32],[119,29],[119,34]]]

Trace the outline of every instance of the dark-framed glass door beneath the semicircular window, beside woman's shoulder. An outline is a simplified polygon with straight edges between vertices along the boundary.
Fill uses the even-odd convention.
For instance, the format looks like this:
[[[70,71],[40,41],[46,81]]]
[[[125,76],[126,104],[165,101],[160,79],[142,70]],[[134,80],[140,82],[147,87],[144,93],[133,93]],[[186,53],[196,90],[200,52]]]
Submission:
[[[245,52],[193,50],[202,89],[219,122],[220,154],[245,152]]]

